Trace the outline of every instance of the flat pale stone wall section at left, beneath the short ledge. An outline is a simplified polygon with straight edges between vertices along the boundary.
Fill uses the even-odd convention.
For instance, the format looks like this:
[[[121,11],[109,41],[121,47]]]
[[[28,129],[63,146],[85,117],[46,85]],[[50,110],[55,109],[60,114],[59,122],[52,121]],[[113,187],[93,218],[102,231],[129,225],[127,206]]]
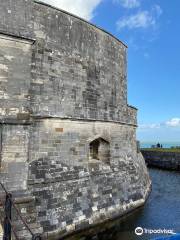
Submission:
[[[1,121],[29,113],[31,55],[31,42],[0,34]]]

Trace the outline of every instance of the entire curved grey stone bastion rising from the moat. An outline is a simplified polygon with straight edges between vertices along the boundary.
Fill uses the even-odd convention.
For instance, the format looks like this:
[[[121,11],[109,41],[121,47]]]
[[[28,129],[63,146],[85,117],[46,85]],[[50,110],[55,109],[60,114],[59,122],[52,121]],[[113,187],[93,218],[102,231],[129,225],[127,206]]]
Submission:
[[[1,0],[0,181],[34,233],[58,239],[144,204],[136,127],[121,41],[46,4]],[[15,212],[13,223],[31,239]]]

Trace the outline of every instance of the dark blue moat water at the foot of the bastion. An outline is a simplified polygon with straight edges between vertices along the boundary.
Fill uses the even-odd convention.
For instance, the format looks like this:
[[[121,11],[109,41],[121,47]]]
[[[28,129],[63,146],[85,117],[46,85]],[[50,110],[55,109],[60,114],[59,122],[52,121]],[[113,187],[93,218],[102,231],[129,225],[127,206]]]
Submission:
[[[136,236],[134,229],[169,229],[180,233],[180,172],[149,169],[153,189],[145,206],[123,220],[103,225],[98,234],[81,234],[83,240],[150,240],[163,235]],[[106,228],[106,230],[104,229]],[[165,236],[165,235],[164,235]],[[180,239],[180,237],[178,238]]]

